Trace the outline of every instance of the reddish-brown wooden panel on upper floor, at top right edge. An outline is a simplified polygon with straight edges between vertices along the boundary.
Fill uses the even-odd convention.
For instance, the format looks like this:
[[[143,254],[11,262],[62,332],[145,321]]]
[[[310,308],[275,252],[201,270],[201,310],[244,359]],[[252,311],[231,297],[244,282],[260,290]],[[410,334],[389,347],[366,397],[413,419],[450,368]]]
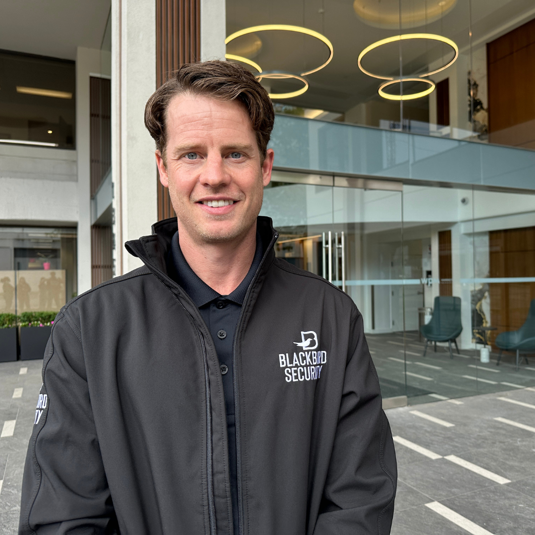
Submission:
[[[535,19],[487,43],[489,141],[535,148]]]

